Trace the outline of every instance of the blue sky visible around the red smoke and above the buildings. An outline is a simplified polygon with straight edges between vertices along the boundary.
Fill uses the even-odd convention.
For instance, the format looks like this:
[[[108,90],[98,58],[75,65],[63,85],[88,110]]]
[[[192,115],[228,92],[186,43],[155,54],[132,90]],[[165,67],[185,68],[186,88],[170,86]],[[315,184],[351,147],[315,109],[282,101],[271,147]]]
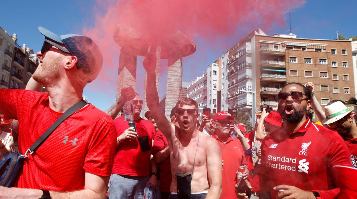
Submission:
[[[92,15],[94,0],[62,0],[62,1],[2,1],[0,26],[9,34],[16,33],[18,44],[22,46],[26,43],[27,47],[39,51],[44,37],[37,31],[38,26],[43,26],[59,35],[68,33],[81,34],[84,26],[93,25],[94,16]],[[331,0],[307,0],[305,6],[291,13],[292,32],[300,38],[321,38],[334,39],[336,31],[343,33],[346,37],[357,36],[356,26],[356,0],[331,1]],[[289,33],[288,15],[286,15],[286,25],[272,27],[272,30],[263,30],[268,35],[273,33]],[[188,57],[183,58],[183,80],[190,82],[193,78],[201,75],[207,66],[220,57],[227,49],[244,38],[255,27],[242,28],[238,35],[224,38],[225,43],[216,45],[207,43],[201,38],[195,38],[197,51]],[[116,45],[115,43],[113,43]],[[205,46],[203,48],[203,46]],[[207,46],[211,46],[207,48]],[[201,48],[202,47],[202,48]],[[138,81],[137,87],[144,85],[144,69],[142,68],[142,57],[138,57]],[[162,65],[167,65],[167,61],[162,60]],[[185,68],[185,64],[195,66]],[[160,75],[160,97],[165,93],[166,67],[162,67]],[[117,70],[113,69],[116,82]],[[96,81],[91,84],[96,84]],[[90,85],[85,89],[84,94],[90,102],[101,110],[106,110],[114,103],[115,85],[107,88],[98,88]],[[142,93],[139,93],[142,95]]]

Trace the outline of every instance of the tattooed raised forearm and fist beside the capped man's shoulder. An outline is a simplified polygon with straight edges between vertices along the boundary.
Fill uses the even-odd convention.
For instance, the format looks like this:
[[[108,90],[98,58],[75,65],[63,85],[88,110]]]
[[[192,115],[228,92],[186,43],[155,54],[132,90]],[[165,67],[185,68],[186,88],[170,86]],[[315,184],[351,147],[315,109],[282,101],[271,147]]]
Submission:
[[[112,117],[114,120],[116,116],[119,114],[120,110],[123,108],[123,104],[135,98],[135,91],[132,87],[122,88],[120,98],[116,100],[116,102],[105,111],[106,114]]]

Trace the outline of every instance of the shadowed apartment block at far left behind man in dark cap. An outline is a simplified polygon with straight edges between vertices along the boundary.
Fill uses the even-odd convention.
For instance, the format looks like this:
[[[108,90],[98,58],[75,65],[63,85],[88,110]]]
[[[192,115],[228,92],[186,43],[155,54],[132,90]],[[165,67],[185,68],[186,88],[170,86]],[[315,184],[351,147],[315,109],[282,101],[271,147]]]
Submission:
[[[20,47],[17,44],[16,34],[8,35],[1,27],[0,50],[2,63],[0,88],[25,89],[39,64],[36,54],[32,49],[26,48],[26,44]]]

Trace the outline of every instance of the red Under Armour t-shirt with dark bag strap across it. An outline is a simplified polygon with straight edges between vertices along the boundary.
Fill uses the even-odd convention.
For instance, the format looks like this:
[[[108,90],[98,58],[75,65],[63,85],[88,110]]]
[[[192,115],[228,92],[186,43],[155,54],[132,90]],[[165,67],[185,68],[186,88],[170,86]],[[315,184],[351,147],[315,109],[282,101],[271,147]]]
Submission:
[[[26,150],[61,115],[49,107],[48,93],[0,89],[0,110],[19,120],[19,151]],[[92,104],[68,117],[27,157],[17,187],[74,191],[84,189],[85,172],[110,176],[116,149],[111,117]]]

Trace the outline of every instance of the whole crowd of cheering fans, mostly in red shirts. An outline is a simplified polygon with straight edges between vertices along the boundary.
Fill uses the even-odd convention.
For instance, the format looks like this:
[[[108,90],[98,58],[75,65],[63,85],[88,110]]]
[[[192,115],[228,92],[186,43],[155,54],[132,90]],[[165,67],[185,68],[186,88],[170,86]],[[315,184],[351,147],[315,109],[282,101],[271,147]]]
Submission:
[[[16,136],[19,152],[28,156],[15,187],[0,187],[0,198],[250,197],[238,187],[240,180],[259,198],[346,193],[349,182],[341,184],[333,167],[357,168],[356,105],[333,100],[322,109],[312,82],[288,83],[277,95],[278,107],[257,112],[250,132],[223,111],[202,115],[199,122],[198,105],[190,98],[177,102],[168,121],[156,90],[155,51],[143,62],[150,109],[143,114],[146,120],[140,117],[140,96],[124,88],[108,110],[86,105],[28,154],[32,143],[81,100],[102,62],[90,38],[39,31],[45,36],[37,53],[41,64],[27,90],[0,89],[0,155],[15,151]],[[47,93],[38,92],[42,85]],[[116,118],[128,100],[135,128],[123,116]],[[318,122],[312,122],[311,109]]]

